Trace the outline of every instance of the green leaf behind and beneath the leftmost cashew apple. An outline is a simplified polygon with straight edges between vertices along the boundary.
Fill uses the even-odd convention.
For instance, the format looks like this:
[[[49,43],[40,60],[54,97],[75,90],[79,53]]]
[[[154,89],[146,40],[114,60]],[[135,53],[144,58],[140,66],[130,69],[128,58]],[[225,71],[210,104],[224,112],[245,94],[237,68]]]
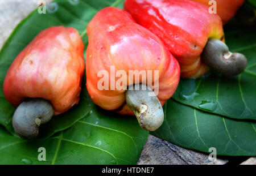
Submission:
[[[37,9],[33,11],[18,24],[0,52],[0,84],[3,85],[6,72],[16,55],[39,32],[51,26],[64,25],[65,27],[75,27],[85,44],[85,58],[88,45],[88,37],[86,36],[87,24],[101,8],[107,6],[122,7],[122,2],[122,0],[59,0],[47,5],[46,14],[39,14]],[[75,105],[67,113],[52,118],[47,125],[42,126],[39,138],[48,138],[55,132],[71,127],[75,122],[88,114],[90,110],[88,105],[92,104],[92,102],[85,90],[85,80],[82,84],[84,85],[84,91],[81,93],[79,105]],[[6,100],[2,86],[0,87],[0,105],[0,125],[5,126],[9,132],[14,134],[11,118],[15,108]]]

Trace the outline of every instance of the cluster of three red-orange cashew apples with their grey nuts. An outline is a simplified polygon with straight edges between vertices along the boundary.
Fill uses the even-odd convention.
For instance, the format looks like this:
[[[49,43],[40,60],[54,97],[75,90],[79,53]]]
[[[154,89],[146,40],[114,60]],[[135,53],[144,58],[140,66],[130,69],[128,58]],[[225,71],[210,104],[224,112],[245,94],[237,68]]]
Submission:
[[[245,56],[230,53],[221,19],[209,14],[207,6],[188,0],[126,0],[124,7],[126,11],[102,9],[87,27],[86,87],[101,108],[135,115],[144,130],[154,131],[163,123],[162,106],[174,94],[180,76],[199,78],[210,69],[231,76],[245,70]],[[16,134],[36,138],[40,124],[79,102],[83,50],[76,29],[51,27],[15,58],[3,91],[18,107],[13,115]],[[129,79],[122,83],[126,89],[98,88],[98,72],[110,73],[112,66],[127,74]],[[129,70],[158,71],[159,78],[151,79],[158,84],[148,85],[148,77],[130,81]],[[118,79],[109,76],[108,81]]]

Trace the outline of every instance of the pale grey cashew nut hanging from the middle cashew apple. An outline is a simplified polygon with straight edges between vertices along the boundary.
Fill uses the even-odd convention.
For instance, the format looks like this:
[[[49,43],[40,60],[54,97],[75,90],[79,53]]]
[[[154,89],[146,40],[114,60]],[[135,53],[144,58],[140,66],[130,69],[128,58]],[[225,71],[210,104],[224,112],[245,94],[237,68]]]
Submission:
[[[139,90],[135,89],[136,85],[139,87]],[[144,86],[146,90],[142,89],[142,84],[131,85],[126,91],[126,103],[144,130],[155,131],[164,121],[164,112],[158,97],[155,96],[152,89],[146,85]]]

